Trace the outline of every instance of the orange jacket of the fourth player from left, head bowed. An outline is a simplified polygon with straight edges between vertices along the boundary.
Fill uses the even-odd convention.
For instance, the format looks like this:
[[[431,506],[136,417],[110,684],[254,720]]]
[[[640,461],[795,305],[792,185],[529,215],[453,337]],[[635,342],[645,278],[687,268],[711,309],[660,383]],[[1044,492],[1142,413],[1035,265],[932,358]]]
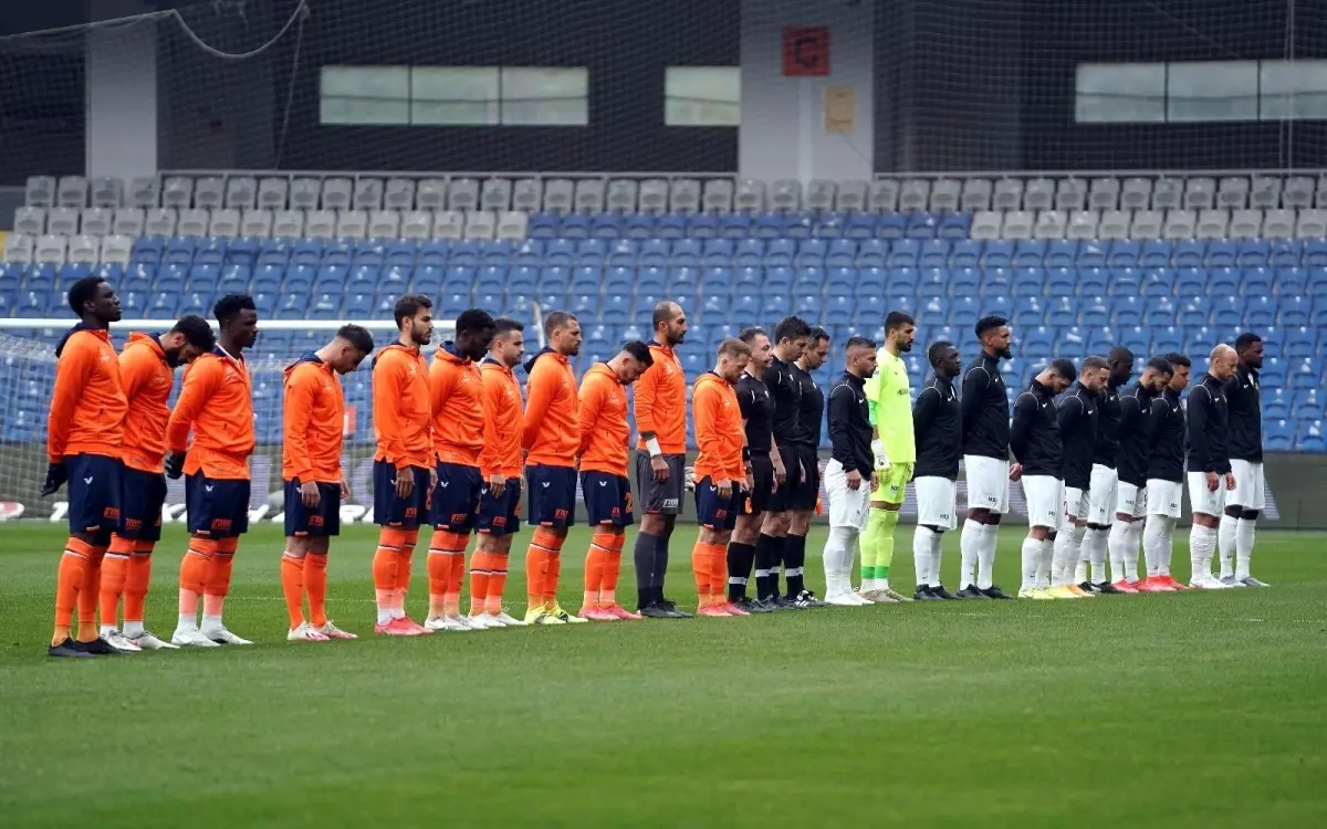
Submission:
[[[338,483],[345,439],[341,378],[317,354],[305,354],[285,367],[283,398],[281,478]]]

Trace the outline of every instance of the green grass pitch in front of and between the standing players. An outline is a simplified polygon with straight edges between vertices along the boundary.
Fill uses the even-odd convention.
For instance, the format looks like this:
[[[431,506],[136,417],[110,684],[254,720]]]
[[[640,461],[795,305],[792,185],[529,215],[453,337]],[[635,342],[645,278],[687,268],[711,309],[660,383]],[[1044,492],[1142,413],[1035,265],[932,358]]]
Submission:
[[[1007,589],[1019,535],[1001,539]],[[1315,825],[1327,805],[1323,536],[1259,535],[1270,590],[374,639],[374,535],[356,527],[333,548],[329,607],[365,638],[292,645],[264,525],[227,607],[259,645],[56,662],[62,539],[0,528],[5,826],[1247,828]],[[683,604],[693,540],[673,542]],[[568,541],[568,607],[585,542]],[[149,598],[162,634],[182,550],[169,528]],[[1176,562],[1186,576],[1184,549]],[[507,594],[523,600],[519,574]]]

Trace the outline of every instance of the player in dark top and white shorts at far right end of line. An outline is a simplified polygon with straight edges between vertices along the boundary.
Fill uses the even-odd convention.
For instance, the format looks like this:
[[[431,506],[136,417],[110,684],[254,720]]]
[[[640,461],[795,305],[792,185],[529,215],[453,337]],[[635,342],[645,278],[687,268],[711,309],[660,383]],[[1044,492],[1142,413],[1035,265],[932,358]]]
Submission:
[[[1226,383],[1230,471],[1235,476],[1235,488],[1226,493],[1226,513],[1221,516],[1221,532],[1217,536],[1221,548],[1221,581],[1233,588],[1266,588],[1267,584],[1254,578],[1249,569],[1254,527],[1258,513],[1266,507],[1266,484],[1262,476],[1262,390],[1258,386],[1262,337],[1253,332],[1239,334],[1235,338],[1235,355],[1239,365],[1235,375]]]

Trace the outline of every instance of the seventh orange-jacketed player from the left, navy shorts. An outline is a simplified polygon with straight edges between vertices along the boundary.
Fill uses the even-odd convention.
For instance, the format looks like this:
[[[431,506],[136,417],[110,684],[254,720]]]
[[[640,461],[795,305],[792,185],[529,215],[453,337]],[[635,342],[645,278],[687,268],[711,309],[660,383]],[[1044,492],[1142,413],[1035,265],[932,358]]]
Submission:
[[[483,623],[520,627],[525,622],[502,607],[507,585],[511,539],[520,529],[520,382],[512,369],[525,355],[525,326],[499,317],[488,357],[479,363],[483,378],[484,448],[479,452],[479,548],[470,558],[470,617]]]

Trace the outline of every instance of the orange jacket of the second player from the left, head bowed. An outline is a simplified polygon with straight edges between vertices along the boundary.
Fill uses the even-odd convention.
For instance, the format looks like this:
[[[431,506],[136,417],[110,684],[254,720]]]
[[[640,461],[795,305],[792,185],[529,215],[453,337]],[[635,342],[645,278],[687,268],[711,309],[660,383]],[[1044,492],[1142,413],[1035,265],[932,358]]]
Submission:
[[[161,338],[134,332],[119,353],[119,385],[125,389],[125,466],[161,474],[166,468],[166,424],[175,370],[166,362]]]

